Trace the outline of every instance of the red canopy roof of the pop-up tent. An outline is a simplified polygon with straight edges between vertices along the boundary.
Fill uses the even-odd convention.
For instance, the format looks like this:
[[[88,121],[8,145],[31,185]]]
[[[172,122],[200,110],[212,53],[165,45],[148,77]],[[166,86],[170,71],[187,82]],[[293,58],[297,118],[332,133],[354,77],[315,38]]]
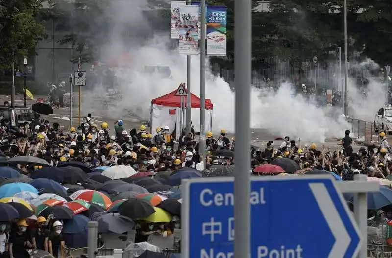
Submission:
[[[180,108],[181,107],[181,96],[176,96],[177,90],[172,91],[171,93],[168,93],[166,95],[163,95],[161,97],[157,97],[151,101],[151,104],[155,105],[161,105],[165,107],[176,107]],[[187,106],[187,98],[184,97],[185,103],[184,106]],[[191,93],[191,107],[192,108],[200,108],[200,98],[196,96],[195,94]],[[207,110],[212,110],[213,105],[211,103],[210,99],[205,100],[205,109]]]

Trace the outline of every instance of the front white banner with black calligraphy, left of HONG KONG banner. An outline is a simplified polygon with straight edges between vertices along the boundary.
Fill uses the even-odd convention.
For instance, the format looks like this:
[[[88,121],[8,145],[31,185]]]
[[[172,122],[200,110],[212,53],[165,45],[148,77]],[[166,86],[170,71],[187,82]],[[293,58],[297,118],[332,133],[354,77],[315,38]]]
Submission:
[[[179,52],[185,55],[199,54],[199,7],[195,5],[179,6]]]

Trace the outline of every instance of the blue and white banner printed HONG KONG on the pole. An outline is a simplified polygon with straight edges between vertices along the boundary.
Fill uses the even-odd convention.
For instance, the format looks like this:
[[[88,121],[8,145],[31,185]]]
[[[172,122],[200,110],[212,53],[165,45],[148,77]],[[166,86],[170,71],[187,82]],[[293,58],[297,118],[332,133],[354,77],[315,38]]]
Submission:
[[[213,6],[207,7],[207,55],[226,55],[227,45],[227,7]]]

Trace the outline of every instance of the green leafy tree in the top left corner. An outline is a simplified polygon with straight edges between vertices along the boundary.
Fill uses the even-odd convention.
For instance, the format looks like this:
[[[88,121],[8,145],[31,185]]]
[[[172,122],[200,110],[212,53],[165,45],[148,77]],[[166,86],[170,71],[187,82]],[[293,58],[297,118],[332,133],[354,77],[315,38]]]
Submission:
[[[37,21],[43,0],[0,0],[0,69],[10,69],[12,62],[34,53],[37,42],[45,36]]]

